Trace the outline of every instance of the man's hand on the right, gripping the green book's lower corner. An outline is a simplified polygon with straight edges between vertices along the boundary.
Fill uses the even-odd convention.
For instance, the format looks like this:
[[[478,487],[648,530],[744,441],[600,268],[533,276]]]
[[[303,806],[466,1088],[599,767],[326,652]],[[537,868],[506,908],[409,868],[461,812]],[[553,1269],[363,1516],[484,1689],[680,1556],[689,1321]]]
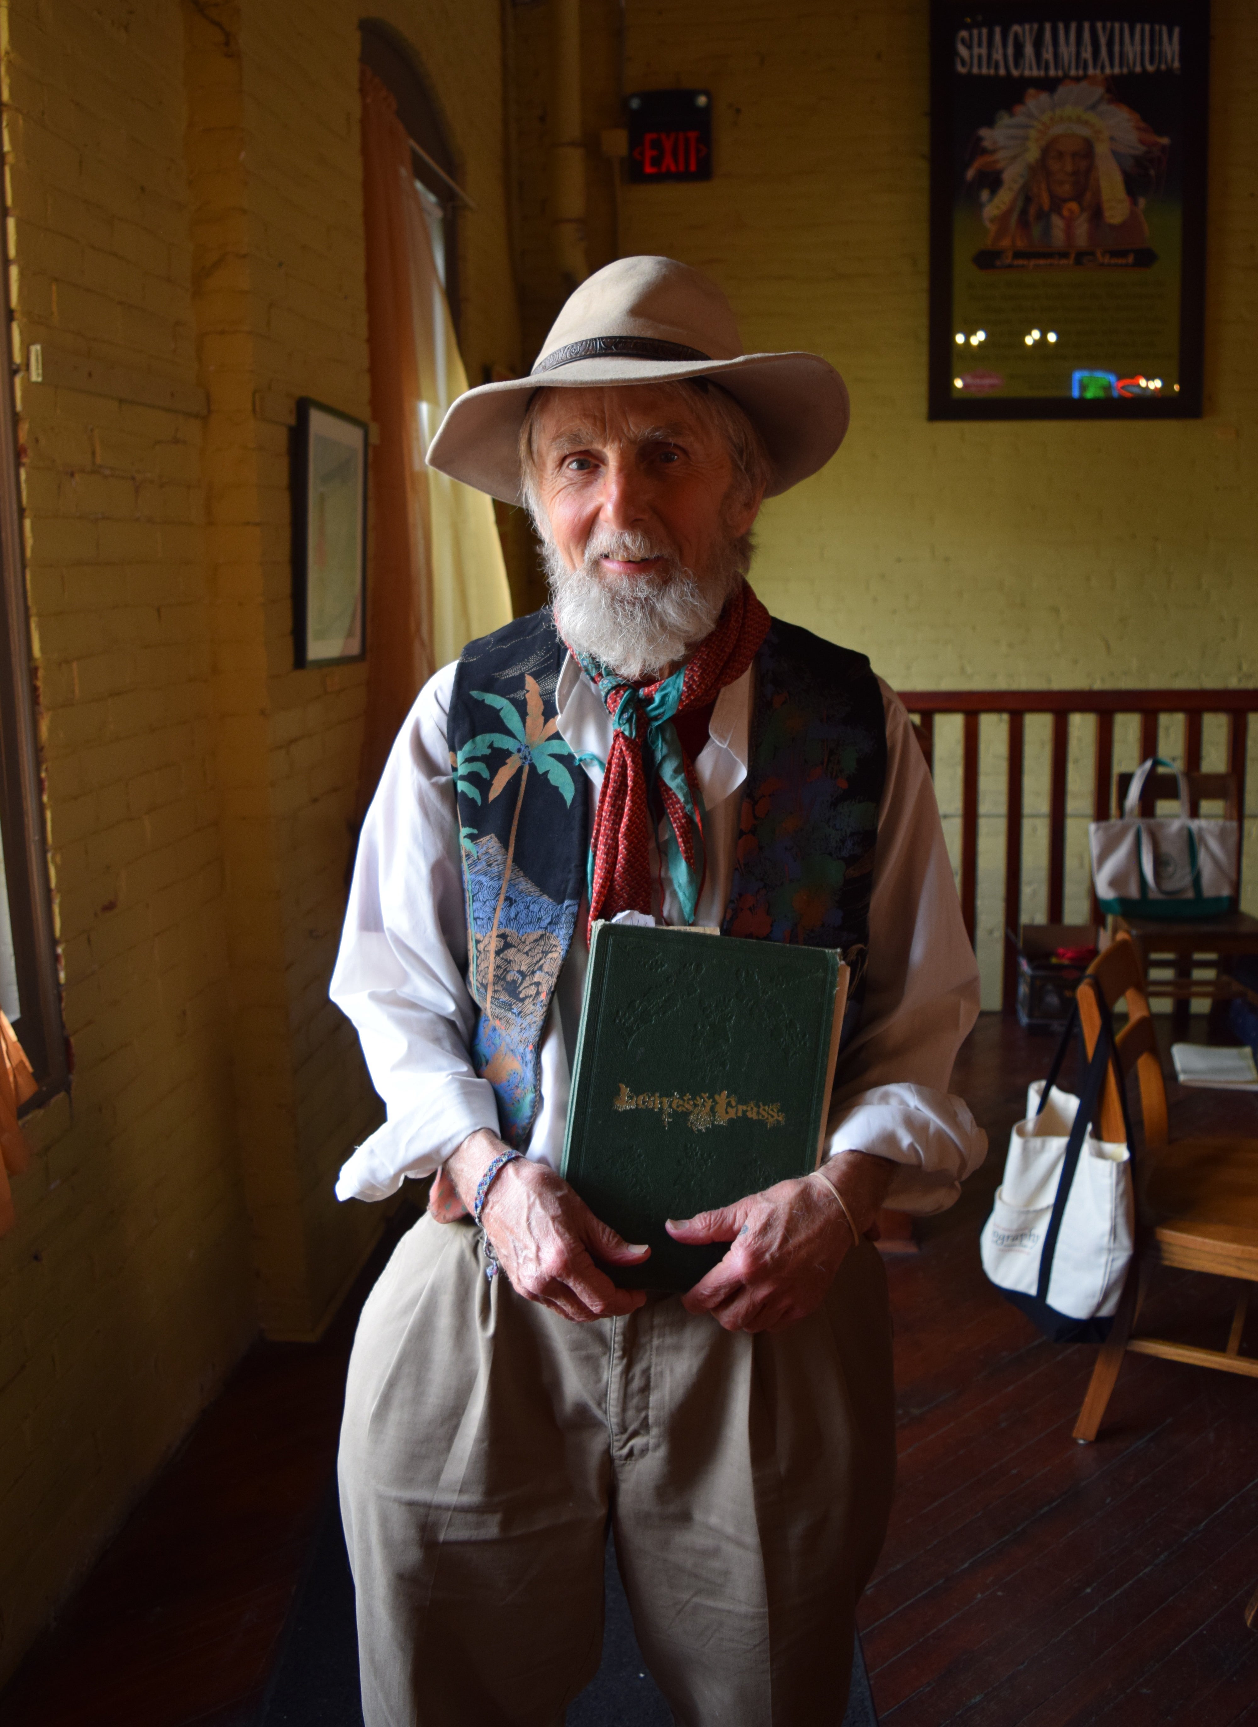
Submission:
[[[856,1228],[873,1221],[894,1166],[865,1152],[839,1152],[821,1178],[842,1193]],[[687,1313],[711,1313],[726,1332],[782,1332],[821,1306],[839,1266],[856,1245],[842,1207],[816,1176],[778,1181],[721,1211],[666,1224],[678,1242],[733,1242],[720,1266],[682,1299]]]

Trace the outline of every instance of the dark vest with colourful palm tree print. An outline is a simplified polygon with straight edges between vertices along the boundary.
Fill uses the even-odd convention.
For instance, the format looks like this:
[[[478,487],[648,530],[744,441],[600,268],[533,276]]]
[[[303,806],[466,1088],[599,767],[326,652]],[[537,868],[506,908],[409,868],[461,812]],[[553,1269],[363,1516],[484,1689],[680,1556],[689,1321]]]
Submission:
[[[587,884],[585,772],[559,737],[566,648],[549,608],[468,642],[450,767],[468,910],[473,1066],[502,1138],[537,1117],[538,1050]],[[887,725],[865,655],[773,620],[754,660],[749,765],[723,936],[840,948],[859,1022]]]

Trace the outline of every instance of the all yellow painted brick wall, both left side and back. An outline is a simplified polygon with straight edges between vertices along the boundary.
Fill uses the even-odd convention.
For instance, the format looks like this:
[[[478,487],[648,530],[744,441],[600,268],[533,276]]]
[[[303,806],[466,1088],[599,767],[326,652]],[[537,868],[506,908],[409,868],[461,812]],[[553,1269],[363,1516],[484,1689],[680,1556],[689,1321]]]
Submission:
[[[904,687],[1246,682],[1258,14],[1213,7],[1205,418],[956,427],[925,418],[927,12],[583,0],[590,264],[687,259],[749,347],[847,376],[840,458],[763,516],[782,615]],[[549,7],[373,16],[414,50],[476,206],[468,375],[521,370],[563,299]],[[0,0],[16,361],[40,342],[207,399],[17,380],[76,1074],[0,1242],[0,1682],[259,1323],[318,1332],[378,1230],[331,1199],[378,1104],[326,1002],[364,668],[292,670],[286,428],[255,411],[369,413],[357,21],[349,0]],[[656,85],[713,90],[716,178],[623,187],[618,228],[599,131]]]

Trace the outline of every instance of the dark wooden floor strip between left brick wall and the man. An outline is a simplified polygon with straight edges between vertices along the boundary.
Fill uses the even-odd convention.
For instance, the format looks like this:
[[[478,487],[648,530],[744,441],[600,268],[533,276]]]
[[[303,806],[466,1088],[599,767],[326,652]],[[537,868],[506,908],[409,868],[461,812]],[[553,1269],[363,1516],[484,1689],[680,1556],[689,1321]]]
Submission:
[[[0,1694],[3,1727],[252,1727],[404,1209],[319,1344],[257,1344]]]

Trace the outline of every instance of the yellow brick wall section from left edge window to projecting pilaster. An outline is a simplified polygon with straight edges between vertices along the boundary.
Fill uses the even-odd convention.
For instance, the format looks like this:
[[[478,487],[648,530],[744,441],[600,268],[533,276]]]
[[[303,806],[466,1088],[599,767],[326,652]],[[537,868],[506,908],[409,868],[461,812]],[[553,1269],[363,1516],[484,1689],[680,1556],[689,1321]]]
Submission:
[[[178,9],[2,14],[22,351],[197,383]],[[52,371],[52,366],[50,366]],[[254,1333],[197,416],[21,383],[74,1107],[0,1242],[9,1672]]]

